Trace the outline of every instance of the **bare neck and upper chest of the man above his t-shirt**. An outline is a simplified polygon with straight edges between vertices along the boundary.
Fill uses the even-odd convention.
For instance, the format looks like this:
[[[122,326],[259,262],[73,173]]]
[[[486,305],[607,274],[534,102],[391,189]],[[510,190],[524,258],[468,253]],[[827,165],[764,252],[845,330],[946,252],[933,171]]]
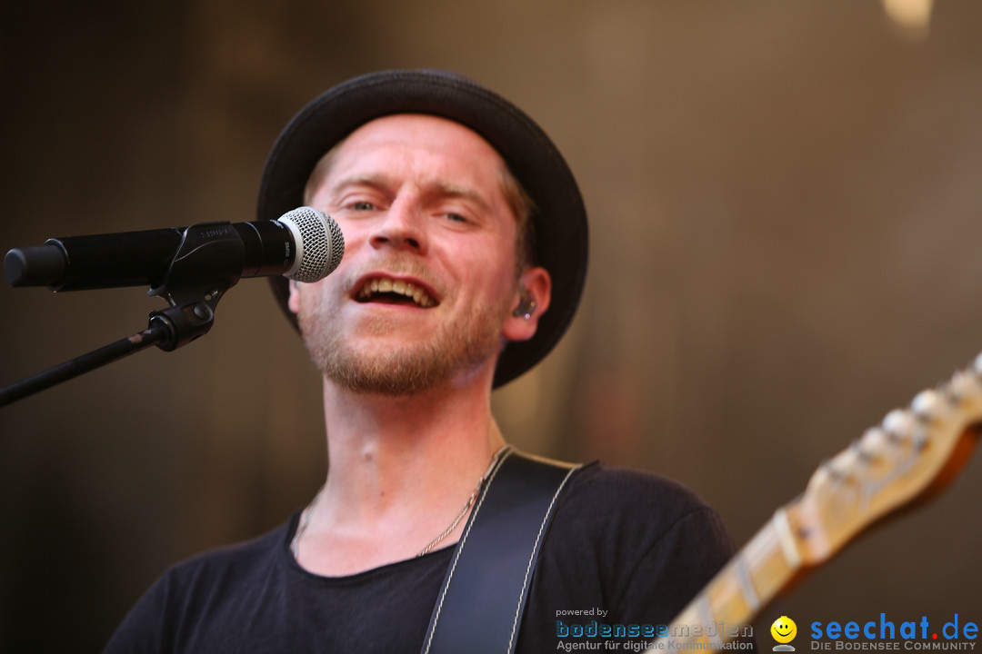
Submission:
[[[329,473],[299,546],[300,565],[351,574],[411,558],[460,515],[504,438],[490,377],[411,397],[324,383]],[[437,544],[456,542],[465,520]]]

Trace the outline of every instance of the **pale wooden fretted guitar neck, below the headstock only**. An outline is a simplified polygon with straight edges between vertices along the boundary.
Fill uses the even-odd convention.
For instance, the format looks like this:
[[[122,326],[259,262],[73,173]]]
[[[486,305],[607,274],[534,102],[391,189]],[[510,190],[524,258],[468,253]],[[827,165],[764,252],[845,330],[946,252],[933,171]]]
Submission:
[[[757,612],[801,570],[794,505],[780,509],[668,627],[666,644],[719,643],[744,634]]]

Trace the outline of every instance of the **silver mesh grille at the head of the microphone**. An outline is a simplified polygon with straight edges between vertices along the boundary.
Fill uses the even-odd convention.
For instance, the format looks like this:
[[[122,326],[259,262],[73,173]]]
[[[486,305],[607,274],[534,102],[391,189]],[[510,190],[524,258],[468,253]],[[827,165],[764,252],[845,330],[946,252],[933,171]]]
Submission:
[[[297,281],[316,281],[327,277],[345,254],[345,236],[330,216],[313,207],[299,207],[280,217],[293,226],[297,244],[294,267],[284,275]]]

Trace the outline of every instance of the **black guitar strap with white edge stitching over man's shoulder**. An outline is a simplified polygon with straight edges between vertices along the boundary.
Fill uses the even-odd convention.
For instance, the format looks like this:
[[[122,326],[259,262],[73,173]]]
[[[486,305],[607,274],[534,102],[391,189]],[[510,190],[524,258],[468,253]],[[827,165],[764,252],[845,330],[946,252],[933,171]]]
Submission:
[[[580,466],[507,452],[474,505],[437,597],[422,654],[511,654],[535,560]]]

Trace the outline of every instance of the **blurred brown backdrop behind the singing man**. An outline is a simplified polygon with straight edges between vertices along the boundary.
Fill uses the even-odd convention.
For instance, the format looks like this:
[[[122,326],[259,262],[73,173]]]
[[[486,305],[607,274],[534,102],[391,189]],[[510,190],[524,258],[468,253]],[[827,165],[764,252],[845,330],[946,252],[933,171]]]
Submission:
[[[681,479],[742,543],[982,350],[982,4],[906,27],[887,10],[10,0],[0,251],[252,220],[314,95],[381,68],[469,75],[552,134],[592,225],[578,319],[496,396],[503,428]],[[0,384],[142,329],[162,306],[143,291],[0,283]],[[283,521],[322,480],[320,413],[260,280],[205,338],[0,410],[0,651],[97,651],[167,565]],[[765,611],[762,645],[782,614],[982,622],[980,458]]]

